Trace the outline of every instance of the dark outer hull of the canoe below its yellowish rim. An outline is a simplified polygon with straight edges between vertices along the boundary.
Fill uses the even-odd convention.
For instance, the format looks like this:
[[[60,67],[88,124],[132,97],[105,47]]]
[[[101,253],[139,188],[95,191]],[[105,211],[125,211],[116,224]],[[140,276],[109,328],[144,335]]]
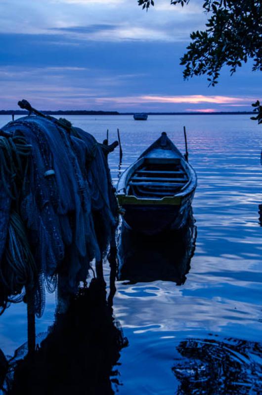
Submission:
[[[126,227],[144,235],[180,230],[187,223],[194,192],[180,199],[180,204],[123,204]]]

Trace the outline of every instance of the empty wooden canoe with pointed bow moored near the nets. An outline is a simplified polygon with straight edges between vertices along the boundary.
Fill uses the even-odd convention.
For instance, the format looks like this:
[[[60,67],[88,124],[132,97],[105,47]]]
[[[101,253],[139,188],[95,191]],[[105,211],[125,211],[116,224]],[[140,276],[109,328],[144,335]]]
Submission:
[[[119,179],[123,221],[146,235],[181,229],[196,186],[195,170],[163,132]]]

